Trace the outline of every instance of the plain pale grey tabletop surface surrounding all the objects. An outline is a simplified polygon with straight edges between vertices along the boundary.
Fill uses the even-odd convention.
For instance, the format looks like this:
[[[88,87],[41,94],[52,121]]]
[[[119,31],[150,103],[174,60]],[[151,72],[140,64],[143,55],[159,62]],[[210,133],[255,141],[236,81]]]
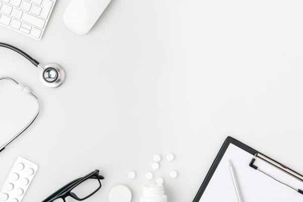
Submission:
[[[0,48],[0,75],[26,83],[42,105],[0,153],[1,183],[19,156],[39,165],[24,202],[95,169],[106,179],[87,202],[108,201],[116,184],[139,201],[153,155],[168,153],[175,161],[154,174],[169,201],[192,201],[227,135],[303,172],[301,1],[113,0],[84,36],[63,23],[68,2],[57,1],[40,41],[0,27],[2,42],[67,72],[47,89],[34,66]],[[4,142],[35,106],[8,82],[0,89]]]

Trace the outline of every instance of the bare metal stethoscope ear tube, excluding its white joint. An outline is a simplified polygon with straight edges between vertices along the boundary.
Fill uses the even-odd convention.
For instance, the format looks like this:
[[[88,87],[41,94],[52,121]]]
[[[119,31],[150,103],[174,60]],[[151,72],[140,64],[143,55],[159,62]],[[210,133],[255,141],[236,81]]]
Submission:
[[[10,80],[12,81],[13,83],[15,83],[16,85],[19,85],[19,83],[10,78],[10,77],[0,77],[0,80]],[[19,137],[29,126],[32,125],[32,123],[36,120],[37,116],[39,115],[40,113],[40,102],[38,100],[38,98],[32,93],[32,92],[29,92],[28,93],[30,96],[32,96],[35,100],[36,100],[36,103],[37,103],[37,111],[34,115],[34,117],[31,119],[31,121],[25,126],[23,127],[16,135],[14,135],[9,141],[7,141],[3,146],[0,147],[0,152],[3,151],[10,143],[12,143],[12,141],[14,141],[17,137]]]

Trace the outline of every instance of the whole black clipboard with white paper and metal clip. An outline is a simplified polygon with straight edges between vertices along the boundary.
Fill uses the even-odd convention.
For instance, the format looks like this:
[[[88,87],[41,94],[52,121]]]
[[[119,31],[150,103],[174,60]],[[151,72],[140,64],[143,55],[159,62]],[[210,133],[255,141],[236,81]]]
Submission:
[[[303,201],[301,174],[229,136],[193,202],[237,201],[228,169],[230,159],[236,163],[243,201]]]

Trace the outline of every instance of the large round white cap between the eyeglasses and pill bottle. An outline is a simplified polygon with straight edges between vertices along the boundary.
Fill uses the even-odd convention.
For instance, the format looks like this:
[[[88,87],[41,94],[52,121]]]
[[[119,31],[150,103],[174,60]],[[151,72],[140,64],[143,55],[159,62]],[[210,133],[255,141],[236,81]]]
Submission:
[[[132,194],[127,186],[116,185],[111,189],[109,198],[110,202],[130,202]]]

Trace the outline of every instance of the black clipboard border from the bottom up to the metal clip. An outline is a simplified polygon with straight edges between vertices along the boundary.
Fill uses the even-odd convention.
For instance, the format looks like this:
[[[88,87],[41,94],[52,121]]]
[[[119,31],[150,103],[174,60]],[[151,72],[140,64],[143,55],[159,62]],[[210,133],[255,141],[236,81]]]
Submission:
[[[230,143],[232,143],[232,144],[236,145],[237,147],[247,151],[251,155],[255,155],[255,154],[259,153],[259,151],[257,151],[256,149],[253,149],[250,146],[247,146],[246,144],[234,139],[233,137],[228,136],[225,139],[222,147],[220,148],[220,151],[219,151],[215,161],[213,162],[209,172],[207,173],[202,185],[200,186],[198,193],[194,197],[193,202],[199,202],[201,196],[203,195],[206,187],[208,186],[209,182],[211,181],[211,179],[212,179],[217,167],[219,166],[219,163],[221,162],[221,160],[222,160],[222,158],[225,154],[225,151],[227,150]]]

